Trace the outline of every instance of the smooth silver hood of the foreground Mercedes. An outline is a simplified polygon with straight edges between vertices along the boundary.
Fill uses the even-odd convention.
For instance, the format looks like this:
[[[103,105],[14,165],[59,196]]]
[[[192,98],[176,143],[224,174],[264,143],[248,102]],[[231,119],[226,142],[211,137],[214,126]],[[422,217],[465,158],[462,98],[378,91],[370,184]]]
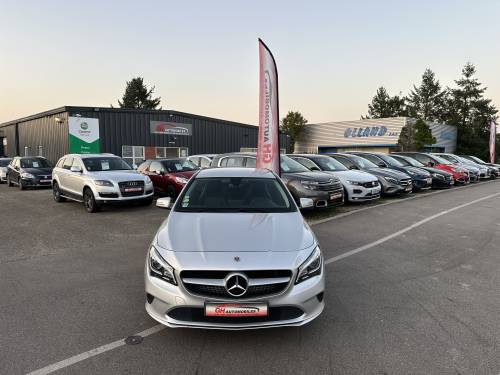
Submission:
[[[314,244],[299,212],[194,213],[172,211],[157,234],[174,252],[298,251]]]

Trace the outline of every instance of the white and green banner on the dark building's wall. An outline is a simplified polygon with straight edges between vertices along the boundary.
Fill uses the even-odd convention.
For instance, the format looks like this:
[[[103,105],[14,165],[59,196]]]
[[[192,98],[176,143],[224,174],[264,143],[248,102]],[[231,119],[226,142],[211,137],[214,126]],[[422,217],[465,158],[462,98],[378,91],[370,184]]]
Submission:
[[[98,154],[101,152],[99,139],[99,119],[69,117],[70,154]]]

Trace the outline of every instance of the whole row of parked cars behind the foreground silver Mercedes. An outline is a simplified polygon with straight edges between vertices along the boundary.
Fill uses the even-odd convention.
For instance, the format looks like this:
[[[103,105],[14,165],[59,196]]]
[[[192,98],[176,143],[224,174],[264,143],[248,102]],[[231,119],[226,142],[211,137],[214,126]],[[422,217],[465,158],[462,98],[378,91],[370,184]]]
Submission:
[[[280,156],[281,179],[300,207],[364,202],[427,189],[450,188],[500,175],[500,165],[449,153],[351,151]],[[137,170],[112,154],[65,155],[52,167],[41,156],[0,159],[0,183],[21,190],[52,187],[54,200],[82,202],[88,212],[105,204],[149,205],[153,196],[175,200],[205,168],[255,168],[256,154],[235,152],[145,160]]]

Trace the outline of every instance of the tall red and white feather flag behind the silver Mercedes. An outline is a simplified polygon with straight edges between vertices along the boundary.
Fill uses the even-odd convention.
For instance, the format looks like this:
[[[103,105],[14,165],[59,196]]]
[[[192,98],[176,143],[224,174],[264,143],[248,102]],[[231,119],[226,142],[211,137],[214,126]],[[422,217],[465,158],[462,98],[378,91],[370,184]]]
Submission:
[[[280,175],[278,70],[273,54],[259,39],[259,135],[257,168]]]

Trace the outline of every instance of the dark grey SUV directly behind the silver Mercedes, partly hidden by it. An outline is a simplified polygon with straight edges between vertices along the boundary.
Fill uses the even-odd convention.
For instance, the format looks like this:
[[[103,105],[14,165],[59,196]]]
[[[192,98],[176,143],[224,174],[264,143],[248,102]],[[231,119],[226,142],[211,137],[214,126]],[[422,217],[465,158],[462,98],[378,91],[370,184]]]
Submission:
[[[311,172],[302,164],[281,155],[281,179],[299,204],[300,198],[311,198],[315,207],[332,207],[344,203],[344,189],[340,180],[324,172]],[[212,168],[255,168],[255,153],[221,154],[213,158]]]

